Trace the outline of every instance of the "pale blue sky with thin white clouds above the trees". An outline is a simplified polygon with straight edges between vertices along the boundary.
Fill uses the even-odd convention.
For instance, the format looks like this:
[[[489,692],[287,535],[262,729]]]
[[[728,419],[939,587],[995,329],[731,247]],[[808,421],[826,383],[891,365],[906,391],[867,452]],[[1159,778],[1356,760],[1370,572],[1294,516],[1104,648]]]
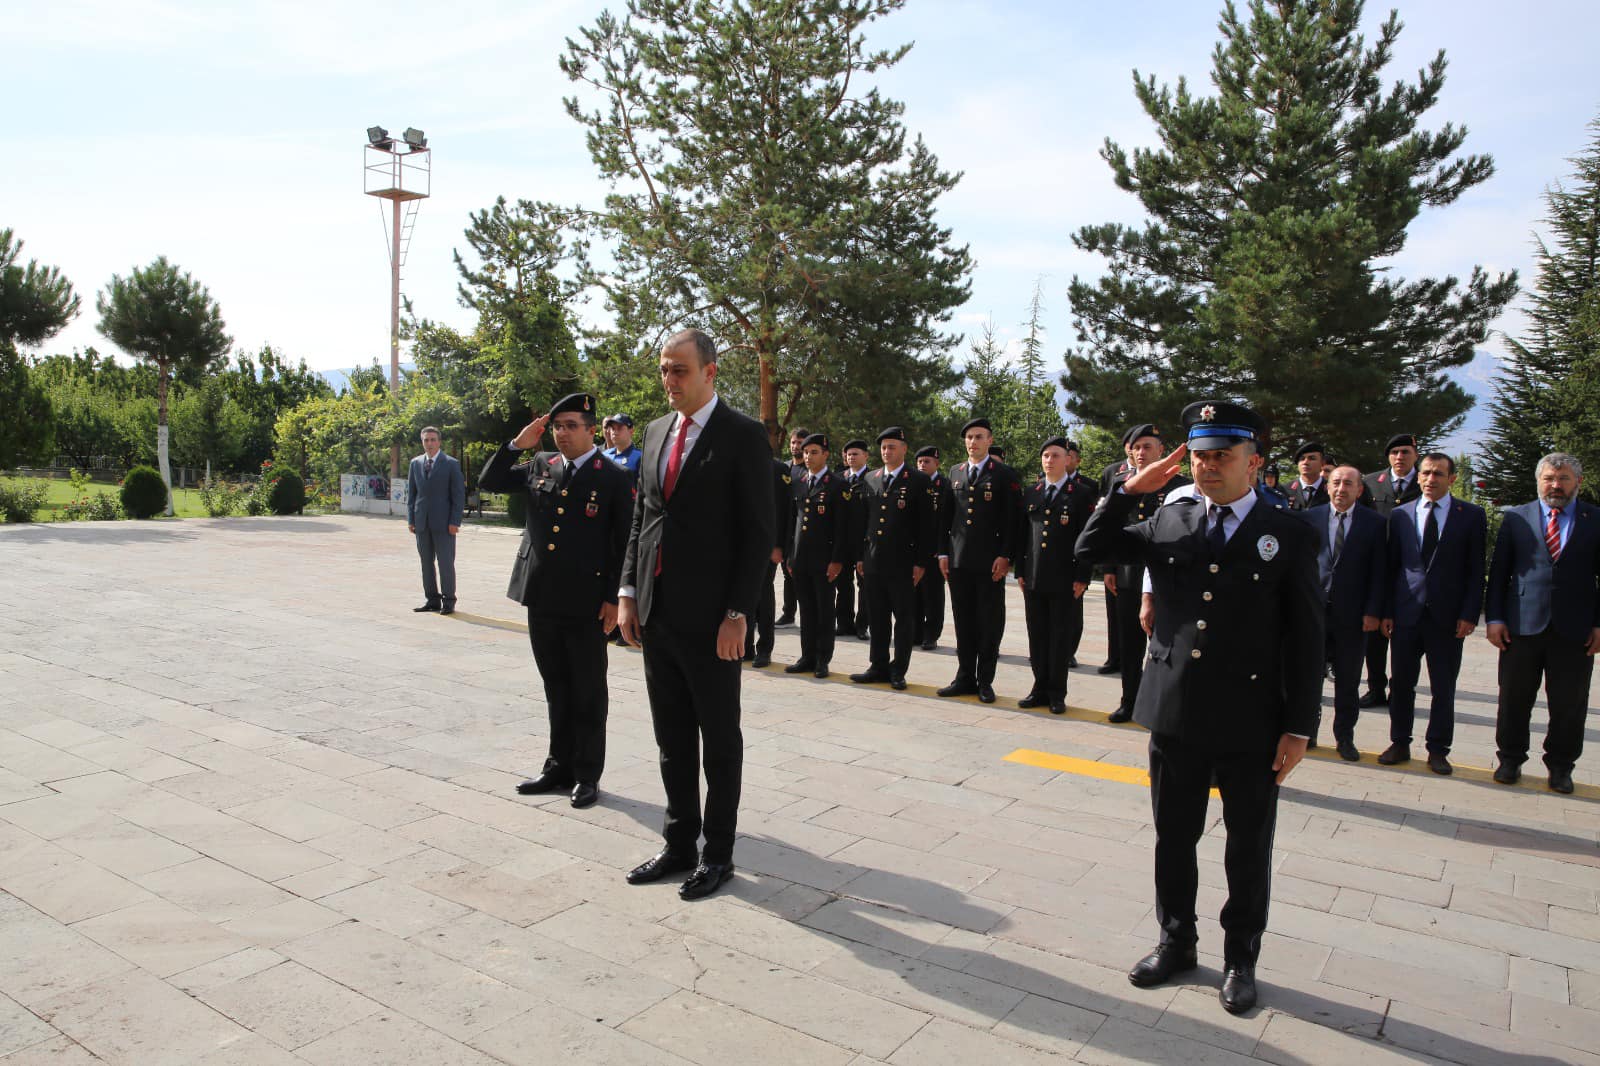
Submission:
[[[86,311],[46,351],[109,344],[93,295],[114,272],[166,254],[205,282],[238,344],[270,343],[320,370],[387,351],[384,222],[362,195],[373,123],[427,131],[422,205],[405,291],[418,314],[470,323],[451,250],[496,195],[597,202],[581,128],[562,109],[565,37],[595,0],[485,0],[461,10],[398,0],[283,0],[232,10],[189,0],[54,0],[0,6],[6,163],[0,226],[61,266]],[[611,5],[616,8],[618,5]],[[1541,194],[1566,173],[1600,109],[1600,5],[1411,0],[1389,82],[1443,48],[1450,75],[1430,125],[1469,126],[1496,176],[1424,214],[1394,267],[1464,275],[1522,269]],[[1368,35],[1389,6],[1370,6]],[[992,319],[1014,341],[1043,279],[1048,351],[1072,341],[1066,285],[1101,261],[1070,234],[1138,221],[1098,157],[1106,136],[1147,144],[1131,70],[1208,86],[1219,5],[910,0],[874,29],[915,48],[880,78],[906,123],[965,173],[941,219],[978,269],[955,328]],[[16,101],[26,99],[24,106]],[[598,307],[586,312],[598,315]],[[1522,315],[1498,325],[1515,335]],[[1502,351],[1491,339],[1490,352]],[[1493,359],[1466,368],[1483,391]]]

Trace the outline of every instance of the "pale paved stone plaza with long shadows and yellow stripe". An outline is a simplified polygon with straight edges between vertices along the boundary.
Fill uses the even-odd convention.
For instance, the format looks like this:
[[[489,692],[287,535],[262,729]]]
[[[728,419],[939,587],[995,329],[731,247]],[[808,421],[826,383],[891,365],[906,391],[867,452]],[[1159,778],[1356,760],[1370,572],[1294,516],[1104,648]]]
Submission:
[[[515,536],[464,530],[440,618],[398,520],[0,527],[0,1061],[1600,1063],[1600,744],[1576,795],[1491,784],[1482,635],[1456,776],[1374,765],[1370,712],[1360,765],[1293,776],[1234,1018],[1219,824],[1200,972],[1125,976],[1152,831],[1099,599],[1064,719],[1014,706],[1014,587],[995,706],[931,696],[949,626],[907,693],[848,682],[856,640],[747,671],[739,874],[685,904],[622,882],[661,821],[635,651],[600,805],[512,791],[546,736]]]

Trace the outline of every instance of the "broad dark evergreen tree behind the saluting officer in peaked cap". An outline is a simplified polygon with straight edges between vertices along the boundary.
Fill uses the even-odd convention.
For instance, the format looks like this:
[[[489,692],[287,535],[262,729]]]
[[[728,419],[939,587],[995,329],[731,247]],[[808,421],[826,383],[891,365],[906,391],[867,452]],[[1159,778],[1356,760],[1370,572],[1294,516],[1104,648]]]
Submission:
[[[1109,261],[1070,287],[1074,415],[1170,424],[1194,397],[1230,395],[1285,450],[1318,437],[1373,464],[1397,429],[1429,440],[1461,423],[1472,397],[1446,371],[1472,359],[1515,274],[1408,282],[1386,259],[1424,206],[1456,202],[1493,162],[1458,157],[1466,128],[1421,128],[1442,51],[1384,91],[1400,21],[1368,46],[1363,6],[1253,0],[1243,21],[1229,2],[1214,96],[1134,72],[1162,146],[1130,157],[1107,141],[1102,157],[1152,221],[1074,237]]]

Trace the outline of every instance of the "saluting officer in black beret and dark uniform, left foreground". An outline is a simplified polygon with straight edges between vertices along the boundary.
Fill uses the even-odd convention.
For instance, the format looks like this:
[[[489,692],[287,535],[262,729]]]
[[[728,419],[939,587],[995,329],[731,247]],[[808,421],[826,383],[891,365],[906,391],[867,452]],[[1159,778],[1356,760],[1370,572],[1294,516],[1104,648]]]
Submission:
[[[544,427],[557,451],[536,451]],[[536,418],[483,466],[491,493],[528,493],[522,546],[506,595],[528,608],[528,640],[550,711],[550,752],[523,795],[573,791],[573,807],[598,797],[605,765],[606,632],[634,520],[634,475],[594,443],[595,399],[574,392]]]

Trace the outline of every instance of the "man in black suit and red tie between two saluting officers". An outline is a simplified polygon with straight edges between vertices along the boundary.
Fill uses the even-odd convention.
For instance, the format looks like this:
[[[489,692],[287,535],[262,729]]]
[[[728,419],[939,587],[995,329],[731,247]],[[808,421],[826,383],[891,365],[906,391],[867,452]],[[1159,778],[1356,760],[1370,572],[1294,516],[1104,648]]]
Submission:
[[[773,530],[766,431],[720,402],[717,346],[699,330],[667,338],[661,384],[672,415],[645,427],[618,623],[645,647],[645,688],[667,792],[666,847],[629,884],[690,874],[699,900],[733,876],[744,739],[739,658],[760,599]],[[699,765],[704,749],[706,808]],[[701,829],[706,848],[698,855]]]

